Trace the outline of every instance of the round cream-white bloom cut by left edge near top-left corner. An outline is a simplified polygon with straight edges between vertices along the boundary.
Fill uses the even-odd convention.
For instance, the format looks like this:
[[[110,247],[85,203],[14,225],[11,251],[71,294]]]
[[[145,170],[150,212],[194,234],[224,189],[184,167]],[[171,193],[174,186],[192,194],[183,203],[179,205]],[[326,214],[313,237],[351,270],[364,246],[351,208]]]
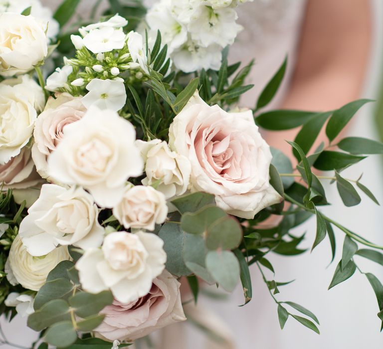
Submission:
[[[0,74],[25,73],[48,54],[45,26],[32,16],[0,14]]]

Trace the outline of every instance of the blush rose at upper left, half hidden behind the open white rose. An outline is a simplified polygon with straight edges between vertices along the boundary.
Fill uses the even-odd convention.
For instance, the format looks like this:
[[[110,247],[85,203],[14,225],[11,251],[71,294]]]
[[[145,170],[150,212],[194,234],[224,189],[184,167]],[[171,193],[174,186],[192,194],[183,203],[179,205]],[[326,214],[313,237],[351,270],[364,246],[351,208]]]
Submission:
[[[72,97],[68,93],[57,93],[56,98],[49,97],[44,111],[38,116],[33,131],[34,144],[32,158],[37,172],[49,181],[47,175],[47,158],[56,150],[63,137],[64,127],[79,121],[86,108],[81,97]]]

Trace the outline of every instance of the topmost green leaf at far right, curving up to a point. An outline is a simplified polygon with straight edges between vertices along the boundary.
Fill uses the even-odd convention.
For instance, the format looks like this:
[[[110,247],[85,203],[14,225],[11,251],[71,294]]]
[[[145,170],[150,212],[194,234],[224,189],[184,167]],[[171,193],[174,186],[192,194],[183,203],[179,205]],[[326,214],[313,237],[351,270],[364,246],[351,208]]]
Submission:
[[[326,127],[326,135],[329,140],[333,141],[335,137],[337,137],[344,129],[344,127],[349,123],[355,113],[368,102],[372,102],[372,100],[360,99],[346,104],[342,108],[336,110]]]

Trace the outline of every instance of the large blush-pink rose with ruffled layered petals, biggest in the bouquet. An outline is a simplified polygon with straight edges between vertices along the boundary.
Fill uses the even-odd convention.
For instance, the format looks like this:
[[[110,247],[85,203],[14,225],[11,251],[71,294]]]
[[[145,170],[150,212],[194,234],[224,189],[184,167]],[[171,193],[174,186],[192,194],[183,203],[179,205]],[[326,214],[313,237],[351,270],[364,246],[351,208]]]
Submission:
[[[169,144],[190,160],[192,189],[214,194],[230,214],[253,218],[282,199],[269,184],[270,148],[250,110],[227,113],[196,91],[175,117]]]

